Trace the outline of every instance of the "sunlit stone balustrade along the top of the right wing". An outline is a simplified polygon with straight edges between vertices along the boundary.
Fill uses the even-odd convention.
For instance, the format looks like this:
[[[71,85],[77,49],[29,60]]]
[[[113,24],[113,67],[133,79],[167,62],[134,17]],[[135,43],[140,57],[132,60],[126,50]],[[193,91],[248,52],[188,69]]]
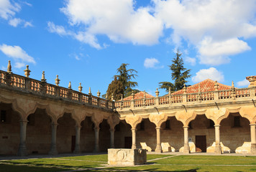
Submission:
[[[145,107],[161,107],[166,105],[189,105],[192,103],[208,103],[225,100],[243,100],[255,97],[256,87],[235,88],[230,90],[216,90],[211,92],[183,93],[163,97],[143,98],[137,100],[120,100],[115,102],[116,110],[139,109]]]

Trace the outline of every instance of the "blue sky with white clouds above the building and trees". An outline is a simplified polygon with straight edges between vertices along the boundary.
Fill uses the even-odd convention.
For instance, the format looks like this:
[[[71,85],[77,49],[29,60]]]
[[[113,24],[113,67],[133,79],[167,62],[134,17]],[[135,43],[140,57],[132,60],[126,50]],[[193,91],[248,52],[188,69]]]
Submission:
[[[0,0],[0,67],[93,95],[104,94],[122,63],[137,70],[137,89],[155,95],[170,81],[180,49],[188,84],[210,78],[247,87],[255,75],[256,1]],[[165,91],[160,90],[160,95]]]

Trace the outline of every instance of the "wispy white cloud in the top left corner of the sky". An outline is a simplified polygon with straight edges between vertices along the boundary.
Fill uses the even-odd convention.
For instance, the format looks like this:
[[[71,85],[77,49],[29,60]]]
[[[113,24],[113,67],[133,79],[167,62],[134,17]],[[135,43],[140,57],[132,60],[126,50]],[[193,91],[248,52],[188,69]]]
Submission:
[[[23,2],[28,6],[32,6],[27,2]],[[17,12],[21,11],[21,6],[14,1],[0,0],[0,17],[8,21],[12,27],[17,27],[19,24],[24,24],[24,27],[32,27],[31,22],[26,22],[24,19],[15,18]]]

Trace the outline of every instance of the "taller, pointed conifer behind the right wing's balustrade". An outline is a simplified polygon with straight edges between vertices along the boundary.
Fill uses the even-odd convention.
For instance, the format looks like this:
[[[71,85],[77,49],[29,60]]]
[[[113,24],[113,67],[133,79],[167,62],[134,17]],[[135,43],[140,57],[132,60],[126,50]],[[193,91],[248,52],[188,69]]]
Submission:
[[[175,58],[172,60],[173,64],[168,66],[172,71],[172,80],[174,80],[174,84],[171,82],[159,82],[160,89],[165,89],[168,92],[170,87],[171,92],[175,92],[181,90],[183,85],[188,82],[186,79],[191,77],[191,75],[189,75],[191,70],[187,70],[183,67],[183,59],[180,56],[181,53],[177,50]]]

